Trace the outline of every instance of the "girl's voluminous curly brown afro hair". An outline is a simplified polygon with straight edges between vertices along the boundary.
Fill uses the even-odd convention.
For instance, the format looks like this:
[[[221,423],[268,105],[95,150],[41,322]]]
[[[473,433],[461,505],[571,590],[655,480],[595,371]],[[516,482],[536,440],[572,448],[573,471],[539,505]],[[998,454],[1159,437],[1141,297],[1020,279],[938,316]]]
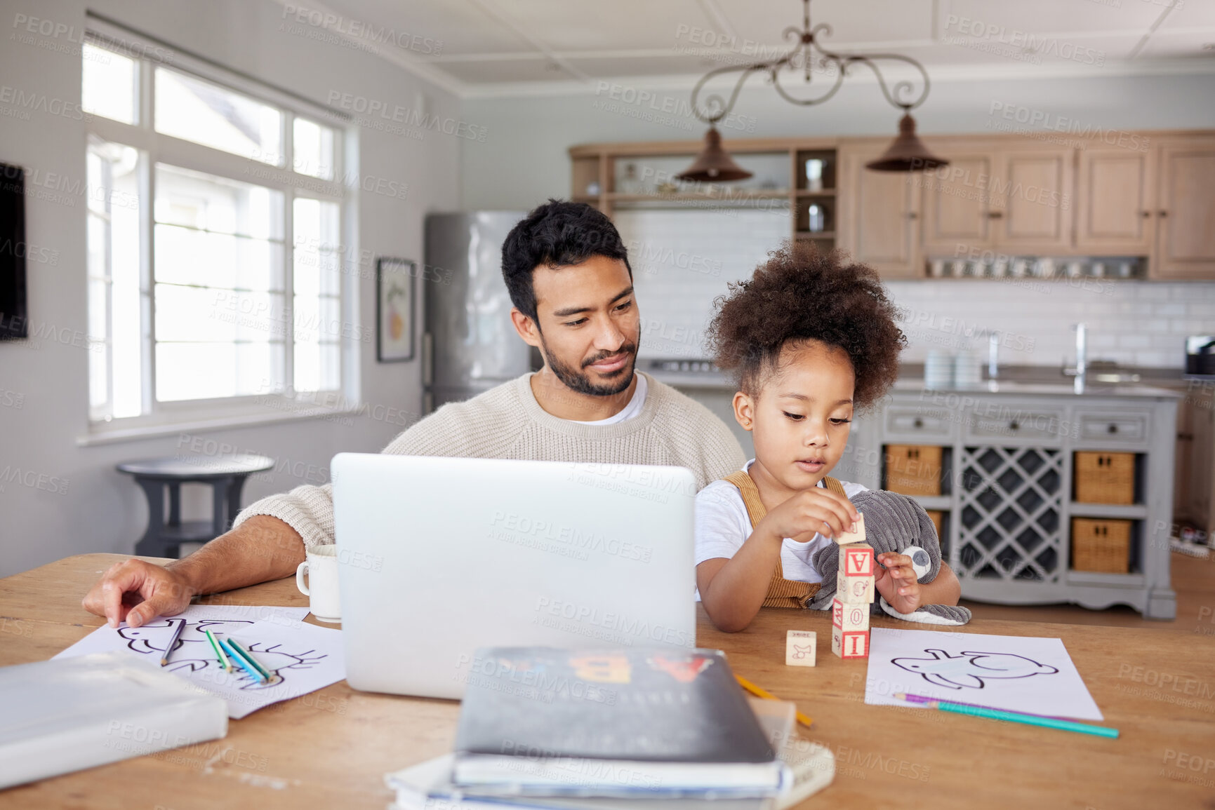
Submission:
[[[819,253],[808,242],[786,242],[714,305],[708,335],[717,364],[752,396],[778,369],[790,341],[819,340],[848,352],[858,408],[877,402],[898,378],[906,338],[894,305],[877,273],[840,250]]]

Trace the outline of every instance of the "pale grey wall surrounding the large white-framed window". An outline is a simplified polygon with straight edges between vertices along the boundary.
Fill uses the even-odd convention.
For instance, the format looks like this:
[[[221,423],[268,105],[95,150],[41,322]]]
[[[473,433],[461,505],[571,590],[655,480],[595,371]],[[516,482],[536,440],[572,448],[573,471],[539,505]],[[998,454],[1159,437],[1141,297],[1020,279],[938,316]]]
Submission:
[[[63,102],[78,109],[85,9],[84,0],[0,0],[0,85],[56,101],[53,109]],[[460,115],[457,98],[377,56],[279,30],[283,10],[270,0],[90,0],[87,9],[318,103],[338,90],[413,108],[416,94],[424,91],[433,112]],[[70,33],[19,41],[12,36],[17,15],[51,19]],[[83,180],[85,123],[36,108],[27,112],[23,120],[21,109],[0,101],[0,162]],[[360,247],[420,261],[424,214],[458,206],[459,142],[435,131],[416,140],[361,129],[358,137],[364,177],[408,186],[405,199],[358,193]],[[53,265],[29,264],[30,325],[86,334],[84,199],[49,197],[27,202],[29,243],[57,256]],[[362,323],[372,323],[371,279],[361,283],[358,305]],[[225,443],[288,463],[289,470],[250,481],[245,504],[300,483],[323,482],[334,453],[378,451],[401,430],[395,424],[405,421],[401,413],[419,410],[418,362],[378,364],[372,342],[363,345],[360,367],[362,396],[372,406],[367,417],[197,434],[215,442],[208,448]],[[50,340],[36,347],[0,344],[0,471],[67,481],[61,493],[49,492],[50,485],[40,489],[0,481],[0,577],[70,554],[130,553],[147,509],[131,478],[114,471],[114,464],[181,452],[177,436],[78,447],[77,437],[87,432],[86,385],[87,352],[80,347]]]

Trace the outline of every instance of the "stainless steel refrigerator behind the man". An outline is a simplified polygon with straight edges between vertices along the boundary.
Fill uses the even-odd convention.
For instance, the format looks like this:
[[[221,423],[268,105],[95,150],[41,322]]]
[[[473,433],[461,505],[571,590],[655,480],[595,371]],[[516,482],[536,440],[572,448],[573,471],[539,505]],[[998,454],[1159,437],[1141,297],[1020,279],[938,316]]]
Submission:
[[[424,410],[539,368],[510,323],[502,243],[526,211],[430,214],[423,284]]]

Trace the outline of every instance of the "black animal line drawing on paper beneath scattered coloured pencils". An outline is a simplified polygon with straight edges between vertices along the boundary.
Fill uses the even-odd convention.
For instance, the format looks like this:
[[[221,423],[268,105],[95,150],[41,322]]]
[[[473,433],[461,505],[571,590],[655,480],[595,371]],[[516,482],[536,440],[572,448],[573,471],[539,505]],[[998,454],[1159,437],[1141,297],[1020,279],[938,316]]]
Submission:
[[[162,619],[137,628],[124,627],[118,630],[118,635],[126,641],[128,648],[134,652],[159,657],[164,653],[164,648],[173,636],[175,624],[180,621],[182,619]],[[208,667],[219,669],[219,661],[216,661],[215,653],[211,651],[210,642],[207,640],[203,630],[210,630],[216,638],[222,639],[231,634],[239,635],[241,630],[248,629],[250,624],[253,622],[248,619],[202,619],[198,622],[187,622],[181,638],[177,639],[177,644],[173,648],[174,656],[169,659],[166,668],[171,672],[182,670],[188,673],[207,669]],[[281,644],[265,646],[260,641],[247,645],[249,652],[256,655],[258,662],[271,673],[277,673],[279,680],[260,684],[243,670],[238,670],[239,674],[234,672],[232,676],[238,682],[242,682],[242,690],[278,686],[286,680],[286,675],[290,670],[311,669],[312,665],[327,657],[324,653],[317,653],[316,650],[287,652],[282,646]]]

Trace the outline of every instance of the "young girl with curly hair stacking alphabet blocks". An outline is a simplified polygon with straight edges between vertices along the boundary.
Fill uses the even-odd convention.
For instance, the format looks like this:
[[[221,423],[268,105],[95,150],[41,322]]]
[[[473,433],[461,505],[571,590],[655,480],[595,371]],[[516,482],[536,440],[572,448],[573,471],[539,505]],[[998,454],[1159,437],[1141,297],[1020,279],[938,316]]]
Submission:
[[[853,410],[898,376],[906,339],[894,315],[872,270],[804,242],[773,251],[718,300],[710,327],[717,364],[738,376],[734,417],[756,448],[740,472],[696,495],[696,585],[718,629],[746,628],[761,606],[804,607],[823,579],[814,551],[854,529],[848,499],[865,487],[827,474],[843,455]],[[920,584],[906,555],[877,561],[877,593],[894,610],[957,604],[946,565]]]

